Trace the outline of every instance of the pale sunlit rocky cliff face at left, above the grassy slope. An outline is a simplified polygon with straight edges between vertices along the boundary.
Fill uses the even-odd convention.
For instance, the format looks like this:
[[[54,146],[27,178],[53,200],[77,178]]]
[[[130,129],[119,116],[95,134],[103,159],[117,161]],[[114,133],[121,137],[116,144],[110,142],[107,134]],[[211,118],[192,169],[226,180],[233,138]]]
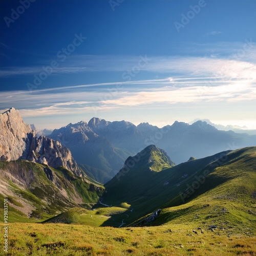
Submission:
[[[63,166],[81,176],[81,171],[68,148],[60,142],[45,136],[36,137],[14,108],[0,114],[0,160],[26,159],[48,164],[51,167]]]

